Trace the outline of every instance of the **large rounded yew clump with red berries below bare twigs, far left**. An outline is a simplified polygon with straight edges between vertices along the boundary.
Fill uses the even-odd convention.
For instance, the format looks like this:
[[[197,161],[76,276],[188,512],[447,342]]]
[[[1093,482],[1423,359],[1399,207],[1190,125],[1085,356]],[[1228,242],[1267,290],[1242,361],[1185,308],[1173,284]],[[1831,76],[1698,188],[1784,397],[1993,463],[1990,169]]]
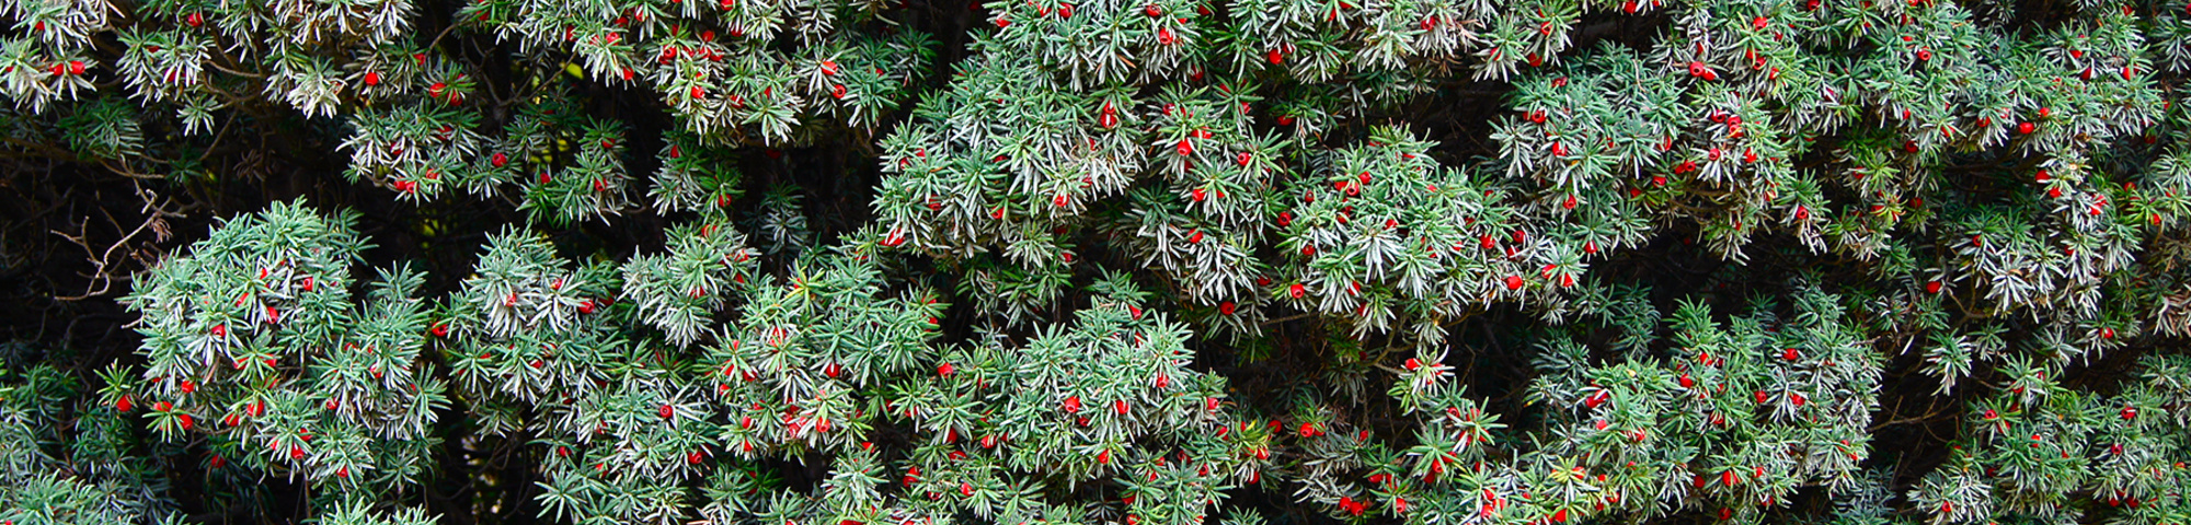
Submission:
[[[151,409],[162,440],[248,451],[223,462],[322,486],[418,483],[438,446],[427,429],[447,409],[421,357],[425,278],[383,269],[353,298],[366,247],[353,221],[274,203],[140,276],[125,302],[145,315],[147,365],[136,387],[110,392],[116,407]]]

